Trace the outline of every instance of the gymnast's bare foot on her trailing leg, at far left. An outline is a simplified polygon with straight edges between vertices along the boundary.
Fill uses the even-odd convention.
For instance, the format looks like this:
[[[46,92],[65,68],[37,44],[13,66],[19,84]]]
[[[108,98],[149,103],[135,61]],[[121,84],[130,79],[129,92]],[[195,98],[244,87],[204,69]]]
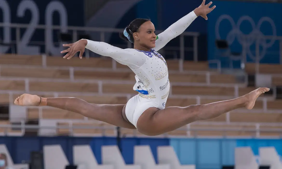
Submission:
[[[14,101],[15,105],[19,106],[39,106],[40,97],[31,94],[22,94]]]

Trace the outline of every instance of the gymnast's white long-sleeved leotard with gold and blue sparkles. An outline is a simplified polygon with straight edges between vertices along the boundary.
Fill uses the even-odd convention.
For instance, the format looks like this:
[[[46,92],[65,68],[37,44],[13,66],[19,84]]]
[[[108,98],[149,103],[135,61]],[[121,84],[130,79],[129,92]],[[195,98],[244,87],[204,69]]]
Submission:
[[[85,48],[102,56],[108,56],[127,65],[134,73],[136,84],[133,90],[139,95],[127,102],[125,113],[128,120],[136,126],[139,116],[149,107],[164,109],[169,94],[168,67],[164,58],[157,53],[170,40],[183,33],[197,18],[192,11],[157,36],[156,46],[151,51],[121,49],[105,42],[87,40]]]

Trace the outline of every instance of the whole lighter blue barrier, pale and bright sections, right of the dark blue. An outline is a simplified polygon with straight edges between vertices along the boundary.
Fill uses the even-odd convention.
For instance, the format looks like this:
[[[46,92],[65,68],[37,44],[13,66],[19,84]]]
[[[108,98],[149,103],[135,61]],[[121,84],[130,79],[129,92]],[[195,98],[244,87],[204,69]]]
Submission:
[[[281,139],[183,139],[170,140],[181,164],[196,164],[197,169],[220,169],[234,165],[236,147],[250,146],[254,155],[259,147],[274,146],[282,155]]]

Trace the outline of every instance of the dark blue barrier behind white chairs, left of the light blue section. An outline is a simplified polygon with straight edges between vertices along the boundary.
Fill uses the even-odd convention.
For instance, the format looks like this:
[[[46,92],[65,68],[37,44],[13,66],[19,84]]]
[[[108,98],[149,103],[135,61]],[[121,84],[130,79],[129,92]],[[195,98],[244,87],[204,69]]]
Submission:
[[[72,146],[90,144],[98,163],[101,164],[101,146],[116,145],[117,140],[111,137],[0,137],[0,144],[6,144],[15,163],[21,163],[22,160],[29,161],[31,151],[42,151],[44,145],[51,144],[60,144],[69,162],[72,163]],[[149,145],[157,159],[157,146],[169,145],[169,140],[122,138],[120,145],[125,162],[132,164],[135,145]]]

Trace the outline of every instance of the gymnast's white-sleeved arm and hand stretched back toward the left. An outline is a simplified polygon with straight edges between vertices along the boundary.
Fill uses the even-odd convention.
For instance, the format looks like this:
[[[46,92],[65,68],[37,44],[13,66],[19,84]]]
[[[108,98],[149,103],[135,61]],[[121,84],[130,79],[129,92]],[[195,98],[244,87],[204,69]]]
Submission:
[[[121,49],[105,42],[81,39],[73,44],[65,44],[63,46],[69,47],[61,52],[68,52],[67,55],[64,56],[64,58],[68,59],[74,56],[78,51],[80,51],[80,58],[82,58],[82,54],[86,48],[99,55],[111,57],[120,64],[127,65],[133,69],[140,68],[146,61],[146,56],[135,49]]]

